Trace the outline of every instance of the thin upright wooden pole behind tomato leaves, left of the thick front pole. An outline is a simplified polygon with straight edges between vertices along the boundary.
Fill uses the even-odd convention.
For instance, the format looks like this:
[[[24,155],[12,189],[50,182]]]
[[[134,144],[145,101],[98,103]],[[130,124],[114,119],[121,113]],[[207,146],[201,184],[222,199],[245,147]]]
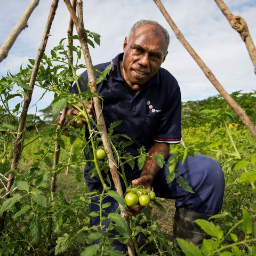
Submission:
[[[76,10],[76,0],[73,0],[73,7],[74,7],[74,10]],[[73,28],[74,28],[74,22],[73,22],[72,18],[70,17],[69,18],[69,26],[68,26],[68,30],[67,30],[68,37],[73,35]],[[73,39],[68,38],[68,45],[73,45]],[[71,51],[70,49],[68,49],[68,57],[69,57],[69,60],[70,60],[69,69],[72,70],[71,65],[73,65],[73,51]],[[71,86],[72,86],[72,83],[70,83],[70,90],[71,90]],[[67,106],[65,106],[62,109],[62,113],[61,113],[61,116],[60,116],[60,121],[59,121],[59,124],[58,124],[57,129],[56,129],[56,135],[55,135],[56,139],[59,137],[59,134],[60,134],[59,131],[63,127],[63,124],[64,124],[65,119],[66,119],[65,118],[66,114],[67,114]],[[58,141],[55,140],[54,158],[53,158],[53,166],[52,166],[52,179],[51,179],[51,191],[52,191],[52,193],[55,193],[56,187],[57,187],[57,185],[56,185],[57,174],[55,173],[55,170],[56,170],[57,164],[59,163],[59,157],[60,157],[60,145],[59,145]]]

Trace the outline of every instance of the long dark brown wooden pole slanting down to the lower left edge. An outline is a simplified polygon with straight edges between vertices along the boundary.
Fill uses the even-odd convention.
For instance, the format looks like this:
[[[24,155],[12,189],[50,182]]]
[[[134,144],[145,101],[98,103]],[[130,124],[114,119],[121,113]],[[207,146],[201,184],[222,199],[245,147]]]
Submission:
[[[44,30],[43,39],[42,39],[41,45],[38,48],[35,65],[33,67],[33,71],[32,71],[31,77],[30,77],[30,81],[29,81],[29,87],[31,89],[27,91],[27,94],[24,99],[23,109],[22,109],[22,112],[20,115],[20,120],[19,120],[17,139],[14,142],[13,158],[12,158],[12,164],[11,164],[11,169],[13,169],[13,170],[17,169],[17,166],[18,166],[18,163],[20,160],[20,156],[21,156],[21,152],[22,152],[21,145],[22,145],[22,141],[23,141],[24,134],[26,131],[26,118],[27,118],[28,108],[29,108],[29,104],[30,104],[30,101],[32,98],[39,65],[40,65],[40,62],[41,62],[41,59],[44,54],[45,47],[46,47],[46,44],[48,41],[50,29],[52,26],[52,21],[53,21],[54,15],[55,15],[55,11],[57,10],[57,7],[58,7],[58,2],[59,2],[59,0],[52,1],[51,10],[50,10],[49,16],[47,18],[47,22],[46,22],[46,26],[45,26],[45,30]],[[11,186],[13,184],[14,178],[15,178],[15,174],[10,174],[8,177],[9,181],[7,182],[7,186],[6,186],[8,194],[5,196],[5,199],[10,197],[9,192],[10,192]],[[4,212],[2,217],[0,217],[0,233],[4,227],[5,217],[6,217],[6,212]]]

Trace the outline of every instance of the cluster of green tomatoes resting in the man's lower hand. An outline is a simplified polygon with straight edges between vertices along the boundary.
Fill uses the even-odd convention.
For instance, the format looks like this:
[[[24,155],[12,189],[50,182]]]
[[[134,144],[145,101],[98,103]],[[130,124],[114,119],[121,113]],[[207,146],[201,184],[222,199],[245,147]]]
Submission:
[[[145,189],[143,186],[129,187],[126,189],[124,201],[127,206],[148,206],[151,200],[155,200],[156,194],[153,190]]]

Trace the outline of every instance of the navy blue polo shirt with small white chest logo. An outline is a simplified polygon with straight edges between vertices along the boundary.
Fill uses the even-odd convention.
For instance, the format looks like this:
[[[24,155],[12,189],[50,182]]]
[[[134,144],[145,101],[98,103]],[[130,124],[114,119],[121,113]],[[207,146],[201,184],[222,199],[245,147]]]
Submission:
[[[146,150],[156,142],[176,144],[181,140],[181,95],[176,79],[164,68],[150,79],[134,94],[122,77],[119,60],[123,53],[113,60],[107,80],[97,85],[103,98],[103,117],[107,128],[115,121],[123,122],[115,128],[119,134],[127,134],[134,143],[126,150],[132,155],[138,155],[137,149],[145,146]],[[111,61],[95,66],[100,71]],[[98,77],[98,73],[95,73]],[[88,83],[87,71],[81,78]],[[79,81],[81,91],[83,83]],[[76,84],[73,93],[78,93]],[[123,138],[125,140],[125,138]]]

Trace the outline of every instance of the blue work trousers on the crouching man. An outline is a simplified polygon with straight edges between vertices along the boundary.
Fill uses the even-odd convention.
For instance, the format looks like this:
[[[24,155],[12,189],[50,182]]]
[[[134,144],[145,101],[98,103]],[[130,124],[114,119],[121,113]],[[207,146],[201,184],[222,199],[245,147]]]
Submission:
[[[167,161],[169,158],[167,158]],[[168,184],[166,175],[169,170],[164,166],[153,182],[156,196],[175,199],[175,207],[186,207],[188,210],[209,216],[217,214],[222,207],[225,188],[224,175],[220,164],[210,157],[195,154],[194,157],[187,156],[183,165],[179,161],[176,168],[178,169],[177,178],[182,176],[195,193],[192,194],[184,190],[175,180]],[[134,179],[136,178],[138,178],[138,174],[134,176]],[[132,177],[129,177],[130,179],[132,180]],[[93,183],[88,182],[87,185],[93,190],[97,189],[95,184],[97,183],[93,185]],[[106,214],[116,211],[118,203],[112,197],[106,197],[103,201],[102,203],[111,203],[105,209]],[[93,198],[91,204],[91,211],[98,211],[98,206],[93,202],[98,203],[98,198]],[[104,224],[108,225],[107,222],[108,220]],[[93,218],[91,225],[99,225],[99,218]],[[114,241],[112,245],[119,251],[125,250],[125,246],[118,241]]]

